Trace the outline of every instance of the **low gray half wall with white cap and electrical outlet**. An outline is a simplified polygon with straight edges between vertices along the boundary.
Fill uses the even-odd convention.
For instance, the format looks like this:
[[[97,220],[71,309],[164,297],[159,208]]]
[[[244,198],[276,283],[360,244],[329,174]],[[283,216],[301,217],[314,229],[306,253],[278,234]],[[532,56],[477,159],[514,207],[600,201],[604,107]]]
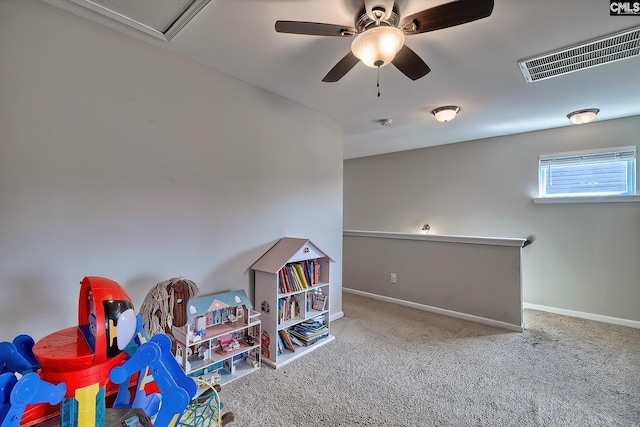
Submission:
[[[345,230],[342,280],[349,292],[522,331],[523,243]]]

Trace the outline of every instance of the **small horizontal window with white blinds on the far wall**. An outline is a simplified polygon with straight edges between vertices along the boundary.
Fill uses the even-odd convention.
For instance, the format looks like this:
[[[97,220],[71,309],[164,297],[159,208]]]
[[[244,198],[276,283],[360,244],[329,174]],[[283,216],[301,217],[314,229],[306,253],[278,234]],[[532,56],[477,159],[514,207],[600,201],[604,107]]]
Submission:
[[[540,156],[539,197],[636,194],[635,146]]]

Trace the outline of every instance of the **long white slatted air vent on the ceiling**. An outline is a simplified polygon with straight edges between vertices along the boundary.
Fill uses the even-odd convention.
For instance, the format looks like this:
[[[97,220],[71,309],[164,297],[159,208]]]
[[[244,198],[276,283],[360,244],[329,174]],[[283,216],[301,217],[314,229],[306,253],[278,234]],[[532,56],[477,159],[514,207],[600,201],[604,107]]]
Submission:
[[[518,64],[525,80],[532,83],[638,55],[640,55],[640,27],[545,55],[523,59],[518,61]]]

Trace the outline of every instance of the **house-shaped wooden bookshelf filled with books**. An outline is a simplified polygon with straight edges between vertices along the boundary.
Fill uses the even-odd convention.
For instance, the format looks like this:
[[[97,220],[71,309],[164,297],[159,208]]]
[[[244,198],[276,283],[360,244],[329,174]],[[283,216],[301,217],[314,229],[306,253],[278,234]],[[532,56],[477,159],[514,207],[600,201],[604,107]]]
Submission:
[[[331,262],[310,240],[283,237],[251,266],[267,365],[278,368],[334,339],[329,324]]]

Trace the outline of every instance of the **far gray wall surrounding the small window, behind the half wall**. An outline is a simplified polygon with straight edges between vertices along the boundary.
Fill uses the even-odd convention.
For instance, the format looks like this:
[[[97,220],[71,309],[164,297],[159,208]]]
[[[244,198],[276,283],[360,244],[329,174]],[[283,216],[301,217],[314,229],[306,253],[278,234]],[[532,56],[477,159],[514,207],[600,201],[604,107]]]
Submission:
[[[636,116],[347,160],[344,228],[534,236],[522,254],[525,303],[638,321],[640,204],[531,197],[540,154],[634,145],[639,134]]]

